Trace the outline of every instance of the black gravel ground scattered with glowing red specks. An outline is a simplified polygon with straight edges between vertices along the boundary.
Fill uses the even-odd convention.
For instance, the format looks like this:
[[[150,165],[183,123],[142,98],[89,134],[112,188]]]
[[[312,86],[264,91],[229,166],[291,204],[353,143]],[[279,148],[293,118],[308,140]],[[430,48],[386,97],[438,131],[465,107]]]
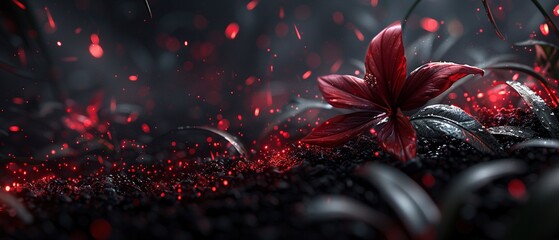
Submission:
[[[547,137],[525,110],[483,110],[478,116],[486,126],[517,125]],[[498,140],[505,149],[522,141]],[[402,224],[378,190],[355,177],[358,166],[367,162],[393,166],[441,205],[449,183],[460,172],[482,162],[518,158],[528,164],[529,171],[486,184],[464,199],[452,238],[502,239],[511,218],[528,199],[507,191],[511,180],[522,181],[530,190],[559,162],[557,151],[549,149],[488,155],[451,138],[420,138],[418,142],[418,158],[409,163],[391,159],[376,140],[363,135],[333,149],[293,145],[279,159],[269,157],[275,153],[264,154],[268,161],[275,161],[275,167],[238,159],[200,159],[192,168],[174,174],[113,171],[79,181],[40,180],[16,193],[33,222],[25,224],[4,207],[0,238],[382,239],[377,230],[359,221],[308,220],[305,203],[321,195],[343,195]],[[161,163],[151,168],[164,172],[168,166]],[[426,182],[426,176],[434,182]]]

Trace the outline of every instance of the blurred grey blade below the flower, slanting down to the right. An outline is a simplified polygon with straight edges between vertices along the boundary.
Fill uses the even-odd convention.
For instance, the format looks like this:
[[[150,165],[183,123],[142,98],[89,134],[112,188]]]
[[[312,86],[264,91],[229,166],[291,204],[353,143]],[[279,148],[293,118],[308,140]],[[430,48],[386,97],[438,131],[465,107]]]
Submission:
[[[439,222],[440,213],[435,203],[401,171],[372,163],[357,169],[356,175],[379,189],[412,235],[421,236]]]

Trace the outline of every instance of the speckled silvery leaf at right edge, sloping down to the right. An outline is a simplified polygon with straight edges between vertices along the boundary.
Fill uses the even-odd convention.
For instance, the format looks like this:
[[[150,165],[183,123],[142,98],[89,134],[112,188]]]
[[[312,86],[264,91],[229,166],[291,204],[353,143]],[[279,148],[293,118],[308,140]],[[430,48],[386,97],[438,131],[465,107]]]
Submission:
[[[532,111],[538,116],[538,120],[540,120],[543,127],[549,131],[551,137],[559,138],[559,121],[557,121],[555,114],[547,106],[545,101],[520,82],[507,81],[507,84],[526,101],[528,106],[530,106]]]

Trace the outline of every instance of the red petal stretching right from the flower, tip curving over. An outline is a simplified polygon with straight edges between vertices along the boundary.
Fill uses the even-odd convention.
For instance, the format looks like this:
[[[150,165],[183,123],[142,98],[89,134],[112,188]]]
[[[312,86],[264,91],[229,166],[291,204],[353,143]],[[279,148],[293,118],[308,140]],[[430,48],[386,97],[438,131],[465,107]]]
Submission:
[[[411,72],[406,80],[401,97],[398,99],[398,106],[402,110],[421,107],[468,74],[483,76],[483,70],[455,63],[432,62],[424,64]]]

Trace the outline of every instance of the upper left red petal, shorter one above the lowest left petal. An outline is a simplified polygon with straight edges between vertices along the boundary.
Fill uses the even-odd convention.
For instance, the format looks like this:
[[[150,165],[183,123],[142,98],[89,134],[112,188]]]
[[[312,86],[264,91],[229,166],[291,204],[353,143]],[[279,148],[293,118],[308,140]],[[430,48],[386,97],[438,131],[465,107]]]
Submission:
[[[330,105],[338,108],[382,110],[375,98],[374,89],[360,78],[350,75],[328,75],[318,78],[322,96]],[[382,103],[381,103],[382,104]]]

